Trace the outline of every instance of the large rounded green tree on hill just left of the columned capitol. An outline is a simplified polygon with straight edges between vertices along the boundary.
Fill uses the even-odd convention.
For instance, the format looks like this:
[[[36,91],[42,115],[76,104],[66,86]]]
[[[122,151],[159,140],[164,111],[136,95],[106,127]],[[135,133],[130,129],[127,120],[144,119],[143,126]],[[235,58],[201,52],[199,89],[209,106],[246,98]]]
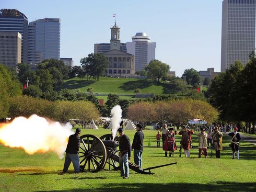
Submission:
[[[109,65],[107,58],[99,53],[91,53],[88,57],[82,58],[80,62],[85,73],[94,77],[94,80],[96,78],[99,80],[99,77],[105,74]]]

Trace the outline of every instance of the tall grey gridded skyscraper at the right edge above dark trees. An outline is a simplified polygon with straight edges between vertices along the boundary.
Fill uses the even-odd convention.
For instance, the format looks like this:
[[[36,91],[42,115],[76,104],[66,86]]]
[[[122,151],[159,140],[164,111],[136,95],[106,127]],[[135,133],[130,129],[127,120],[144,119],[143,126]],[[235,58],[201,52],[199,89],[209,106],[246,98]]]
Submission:
[[[256,0],[223,0],[221,72],[236,60],[245,65],[255,50]]]

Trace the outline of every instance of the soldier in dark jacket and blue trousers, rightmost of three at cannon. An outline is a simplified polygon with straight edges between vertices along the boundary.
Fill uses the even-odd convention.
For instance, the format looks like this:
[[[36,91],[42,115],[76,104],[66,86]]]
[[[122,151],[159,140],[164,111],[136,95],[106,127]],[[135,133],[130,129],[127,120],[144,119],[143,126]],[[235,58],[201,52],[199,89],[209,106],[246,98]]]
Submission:
[[[142,152],[143,152],[143,140],[144,134],[142,132],[142,125],[136,124],[137,132],[134,134],[131,148],[133,150],[134,163],[140,168],[142,167]]]

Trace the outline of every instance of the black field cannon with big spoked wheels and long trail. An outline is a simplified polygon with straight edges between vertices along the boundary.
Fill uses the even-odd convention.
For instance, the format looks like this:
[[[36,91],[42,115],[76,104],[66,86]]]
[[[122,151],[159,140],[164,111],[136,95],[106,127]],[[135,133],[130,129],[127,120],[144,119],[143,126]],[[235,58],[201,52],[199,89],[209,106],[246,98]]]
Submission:
[[[114,170],[119,169],[119,156],[117,154],[117,147],[119,146],[119,137],[113,139],[111,134],[106,134],[101,137],[93,135],[80,136],[80,171],[81,172],[98,172],[101,169],[108,169],[111,167]],[[156,169],[176,163],[169,163],[165,165],[155,166],[147,169],[140,169],[138,165],[129,161],[129,169],[141,174],[153,174],[151,169]]]

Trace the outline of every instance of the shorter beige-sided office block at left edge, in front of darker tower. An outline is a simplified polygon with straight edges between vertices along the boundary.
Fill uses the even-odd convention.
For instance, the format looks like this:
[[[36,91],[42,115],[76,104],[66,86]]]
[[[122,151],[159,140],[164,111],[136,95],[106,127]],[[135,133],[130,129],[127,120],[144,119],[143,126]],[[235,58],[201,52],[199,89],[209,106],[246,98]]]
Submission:
[[[22,35],[19,32],[0,31],[0,64],[17,70],[22,59]]]

